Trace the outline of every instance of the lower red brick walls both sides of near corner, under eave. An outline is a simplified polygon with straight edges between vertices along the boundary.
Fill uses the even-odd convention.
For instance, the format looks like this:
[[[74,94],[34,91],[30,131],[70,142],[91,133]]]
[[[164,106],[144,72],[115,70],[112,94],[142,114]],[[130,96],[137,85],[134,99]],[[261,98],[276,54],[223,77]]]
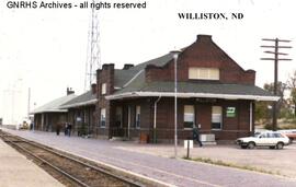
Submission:
[[[127,106],[140,105],[140,129],[134,128],[132,120],[130,138],[139,138],[141,132],[148,133],[152,139],[153,128],[153,98],[135,98],[114,102],[114,106],[124,106],[124,127],[127,128]],[[184,129],[184,105],[195,106],[195,124],[202,125],[201,133],[215,133],[217,140],[235,140],[249,133],[249,106],[250,101],[224,101],[213,100],[212,103],[203,103],[195,98],[178,100],[178,137],[186,139],[192,137],[191,129]],[[223,107],[223,129],[212,130],[212,106]],[[226,117],[226,108],[236,107],[236,117]],[[134,118],[134,113],[132,114]],[[113,116],[114,118],[115,116]],[[157,138],[159,140],[173,141],[174,138],[174,100],[162,97],[157,106]]]

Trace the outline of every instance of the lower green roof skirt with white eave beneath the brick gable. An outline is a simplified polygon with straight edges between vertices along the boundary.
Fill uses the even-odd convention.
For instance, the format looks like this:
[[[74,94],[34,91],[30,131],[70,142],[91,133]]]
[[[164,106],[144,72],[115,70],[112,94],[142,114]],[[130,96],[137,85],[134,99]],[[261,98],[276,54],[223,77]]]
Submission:
[[[106,96],[107,100],[116,100],[129,96],[151,96],[167,95],[172,96],[174,92],[173,81],[146,82],[145,70],[139,71],[133,77],[124,87],[114,94]],[[226,84],[213,81],[192,81],[178,82],[178,93],[184,97],[219,97],[234,100],[259,100],[277,101],[277,96],[272,93],[250,84]],[[244,97],[246,96],[246,97]]]

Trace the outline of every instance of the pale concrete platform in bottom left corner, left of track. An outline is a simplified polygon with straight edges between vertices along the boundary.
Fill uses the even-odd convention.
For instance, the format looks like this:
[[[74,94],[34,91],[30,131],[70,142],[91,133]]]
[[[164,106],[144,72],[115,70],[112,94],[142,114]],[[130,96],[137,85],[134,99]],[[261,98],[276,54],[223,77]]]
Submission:
[[[0,140],[0,187],[64,186],[24,155]]]

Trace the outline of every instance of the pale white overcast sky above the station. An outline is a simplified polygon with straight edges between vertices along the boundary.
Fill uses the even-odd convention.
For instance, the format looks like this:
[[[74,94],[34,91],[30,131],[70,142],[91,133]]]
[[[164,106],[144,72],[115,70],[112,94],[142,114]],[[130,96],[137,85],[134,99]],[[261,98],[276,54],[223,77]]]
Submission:
[[[91,1],[91,0],[89,0]],[[29,1],[25,1],[29,2]],[[41,1],[37,1],[41,3]],[[53,2],[53,1],[44,1]],[[83,2],[54,1],[54,2]],[[100,59],[140,63],[180,49],[208,34],[243,69],[257,71],[257,85],[273,81],[273,61],[262,61],[262,38],[291,39],[292,61],[281,61],[280,81],[296,70],[293,0],[106,0],[146,2],[146,9],[100,9]],[[91,9],[9,9],[0,1],[0,118],[21,122],[27,109],[84,91]],[[180,20],[178,13],[243,13],[241,20]],[[31,97],[29,102],[29,87]],[[29,105],[30,103],[30,105]]]

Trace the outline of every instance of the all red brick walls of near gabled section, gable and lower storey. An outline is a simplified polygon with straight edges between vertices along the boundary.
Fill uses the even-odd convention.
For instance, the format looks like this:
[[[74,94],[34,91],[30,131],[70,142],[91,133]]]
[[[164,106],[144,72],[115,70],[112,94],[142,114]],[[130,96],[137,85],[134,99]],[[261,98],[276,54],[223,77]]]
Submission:
[[[179,56],[178,60],[178,81],[187,82],[189,68],[218,68],[220,71],[220,83],[240,83],[254,84],[255,72],[253,70],[244,71],[237,62],[235,62],[226,52],[224,52],[210,36],[198,36],[198,39],[189,46]],[[174,80],[174,62],[171,60],[163,67],[147,66],[146,82],[152,81],[173,81]],[[114,65],[104,65],[102,70],[98,70],[98,98],[96,104],[96,121],[100,120],[100,109],[106,108],[106,127],[96,128],[98,135],[110,136],[109,127],[115,124],[115,108],[117,105],[123,106],[123,115],[127,115],[127,106],[141,106],[141,128],[132,129],[130,136],[137,137],[145,131],[150,133],[153,127],[153,102],[156,97],[130,98],[123,101],[106,101],[105,95],[101,95],[101,85],[106,83],[106,95],[114,93]],[[160,75],[161,74],[161,75]],[[183,109],[184,104],[194,104],[196,109],[196,125],[202,125],[202,132],[215,133],[217,139],[235,139],[241,135],[248,133],[249,130],[249,101],[224,101],[217,100],[216,103],[201,103],[195,98],[179,100],[178,104],[178,128],[180,138],[191,137],[191,130],[183,128]],[[212,130],[212,105],[223,106],[223,130]],[[226,107],[235,106],[238,115],[234,118],[226,117]],[[158,104],[157,129],[159,139],[173,140],[174,126],[174,103],[173,98],[161,98]],[[132,115],[135,110],[132,110]],[[132,125],[133,125],[132,119]],[[127,118],[124,117],[124,127],[127,127]],[[239,129],[239,130],[238,130]]]

